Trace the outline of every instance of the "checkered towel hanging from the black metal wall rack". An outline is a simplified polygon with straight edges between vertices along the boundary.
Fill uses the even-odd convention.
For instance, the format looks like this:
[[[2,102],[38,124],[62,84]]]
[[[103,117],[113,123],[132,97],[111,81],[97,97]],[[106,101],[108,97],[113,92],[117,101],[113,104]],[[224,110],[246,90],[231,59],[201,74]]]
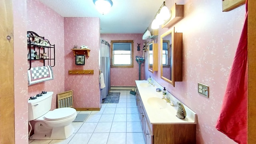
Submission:
[[[52,67],[41,66],[28,70],[28,85],[44,82],[46,80],[53,80]]]

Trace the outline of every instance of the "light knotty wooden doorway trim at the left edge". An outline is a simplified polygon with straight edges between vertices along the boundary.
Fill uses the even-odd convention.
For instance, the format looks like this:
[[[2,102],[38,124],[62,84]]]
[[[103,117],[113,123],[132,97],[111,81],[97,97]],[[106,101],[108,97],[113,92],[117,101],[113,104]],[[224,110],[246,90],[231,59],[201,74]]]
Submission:
[[[12,0],[0,0],[0,144],[15,143]]]

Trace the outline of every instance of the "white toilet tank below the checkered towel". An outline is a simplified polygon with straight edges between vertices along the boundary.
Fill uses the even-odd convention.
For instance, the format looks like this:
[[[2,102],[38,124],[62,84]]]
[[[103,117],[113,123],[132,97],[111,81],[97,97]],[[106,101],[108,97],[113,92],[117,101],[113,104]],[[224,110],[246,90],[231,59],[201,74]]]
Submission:
[[[51,109],[53,92],[28,100],[28,121],[35,120]]]

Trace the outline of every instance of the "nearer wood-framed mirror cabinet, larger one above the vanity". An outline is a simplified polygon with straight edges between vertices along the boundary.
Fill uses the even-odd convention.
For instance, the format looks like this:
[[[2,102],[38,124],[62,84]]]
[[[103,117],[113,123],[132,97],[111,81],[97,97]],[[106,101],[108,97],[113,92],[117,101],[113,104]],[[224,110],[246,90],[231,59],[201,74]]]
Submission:
[[[182,33],[174,28],[161,35],[161,78],[175,86],[182,81]]]

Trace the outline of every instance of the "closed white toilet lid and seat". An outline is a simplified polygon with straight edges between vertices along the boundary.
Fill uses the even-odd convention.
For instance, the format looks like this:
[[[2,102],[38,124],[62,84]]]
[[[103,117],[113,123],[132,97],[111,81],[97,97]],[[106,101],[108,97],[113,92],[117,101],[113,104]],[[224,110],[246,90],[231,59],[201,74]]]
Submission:
[[[44,115],[45,120],[62,120],[73,116],[76,113],[74,108],[56,108]]]

